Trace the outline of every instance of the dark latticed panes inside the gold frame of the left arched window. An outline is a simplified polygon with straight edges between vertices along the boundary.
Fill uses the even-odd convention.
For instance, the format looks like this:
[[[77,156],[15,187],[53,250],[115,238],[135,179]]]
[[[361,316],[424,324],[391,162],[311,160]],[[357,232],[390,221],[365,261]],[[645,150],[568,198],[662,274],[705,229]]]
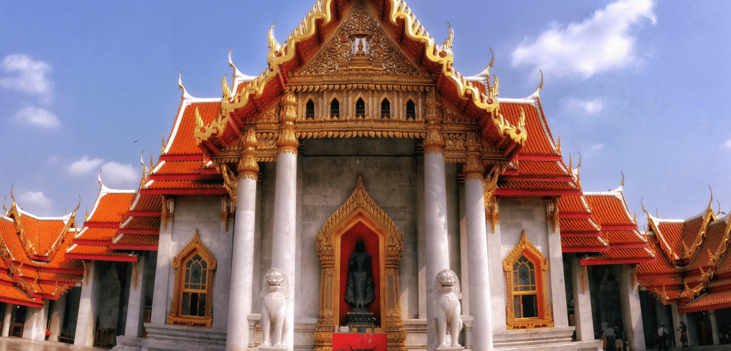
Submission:
[[[181,315],[205,316],[208,263],[197,252],[186,261]]]

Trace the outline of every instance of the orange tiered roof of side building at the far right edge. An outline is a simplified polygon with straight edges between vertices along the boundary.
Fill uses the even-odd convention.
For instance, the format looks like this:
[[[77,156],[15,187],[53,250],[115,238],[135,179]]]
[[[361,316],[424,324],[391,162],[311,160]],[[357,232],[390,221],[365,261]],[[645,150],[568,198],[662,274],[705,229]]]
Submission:
[[[725,254],[731,216],[717,219],[712,201],[689,219],[647,214],[659,260],[637,266],[638,282],[662,303],[678,303],[681,313],[731,306],[731,259]]]

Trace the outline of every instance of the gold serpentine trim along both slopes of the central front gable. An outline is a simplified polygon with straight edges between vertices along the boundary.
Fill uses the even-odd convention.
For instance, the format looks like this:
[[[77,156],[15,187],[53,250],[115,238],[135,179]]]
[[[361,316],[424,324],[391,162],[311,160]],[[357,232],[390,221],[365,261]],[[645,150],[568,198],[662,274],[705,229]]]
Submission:
[[[281,44],[274,38],[273,27],[269,29],[268,68],[250,82],[232,85],[231,88],[227,86],[224,78],[221,82],[223,99],[218,118],[208,125],[200,119],[196,121],[194,137],[197,145],[207,156],[218,154],[220,147],[238,143],[243,124],[265,113],[279,102],[275,97],[291,88],[287,72],[302,68],[300,66],[307,64],[311,59],[306,56],[317,53],[325,45],[327,39],[336,31],[340,20],[344,18],[344,8],[351,6],[352,2],[354,1],[318,0],[292,34],[289,34]],[[398,42],[397,46],[418,66],[434,74],[435,81],[429,84],[436,84],[440,91],[442,87],[447,88],[449,91],[444,95],[449,95],[451,99],[459,102],[453,105],[461,107],[464,111],[469,110],[466,114],[480,119],[480,124],[483,126],[483,143],[497,147],[505,145],[505,148],[516,146],[520,148],[525,144],[527,139],[525,121],[520,120],[517,125],[513,125],[499,113],[498,84],[495,76],[493,75],[493,85],[485,84],[485,93],[482,93],[452,67],[454,57],[451,50],[453,38],[451,26],[444,44],[437,45],[404,1],[368,2],[373,4],[373,13],[377,14],[380,25],[391,29],[389,37]],[[491,66],[492,61],[485,69],[488,78]]]

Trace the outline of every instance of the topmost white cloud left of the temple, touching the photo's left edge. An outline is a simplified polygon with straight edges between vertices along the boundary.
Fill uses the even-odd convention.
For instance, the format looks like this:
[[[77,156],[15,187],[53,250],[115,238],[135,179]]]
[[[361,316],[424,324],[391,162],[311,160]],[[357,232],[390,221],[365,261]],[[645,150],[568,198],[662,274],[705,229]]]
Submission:
[[[8,55],[0,63],[11,77],[0,78],[0,86],[29,94],[50,94],[53,82],[46,75],[51,71],[44,61],[34,61],[23,54]]]

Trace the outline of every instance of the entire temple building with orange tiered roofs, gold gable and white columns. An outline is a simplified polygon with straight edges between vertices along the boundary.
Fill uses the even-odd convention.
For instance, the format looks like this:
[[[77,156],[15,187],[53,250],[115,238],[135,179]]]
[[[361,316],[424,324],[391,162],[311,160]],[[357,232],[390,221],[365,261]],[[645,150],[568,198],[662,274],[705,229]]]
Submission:
[[[448,24],[448,23],[447,23]],[[318,0],[268,68],[181,103],[137,189],[0,216],[1,336],[113,350],[719,344],[730,216],[586,192],[539,90],[466,77],[401,0]],[[262,33],[263,35],[263,33]],[[527,94],[526,94],[527,95]],[[622,181],[624,184],[624,180]],[[12,190],[11,190],[12,194]],[[715,311],[715,312],[714,312]],[[724,327],[725,326],[725,327]],[[616,341],[615,341],[616,339]]]

